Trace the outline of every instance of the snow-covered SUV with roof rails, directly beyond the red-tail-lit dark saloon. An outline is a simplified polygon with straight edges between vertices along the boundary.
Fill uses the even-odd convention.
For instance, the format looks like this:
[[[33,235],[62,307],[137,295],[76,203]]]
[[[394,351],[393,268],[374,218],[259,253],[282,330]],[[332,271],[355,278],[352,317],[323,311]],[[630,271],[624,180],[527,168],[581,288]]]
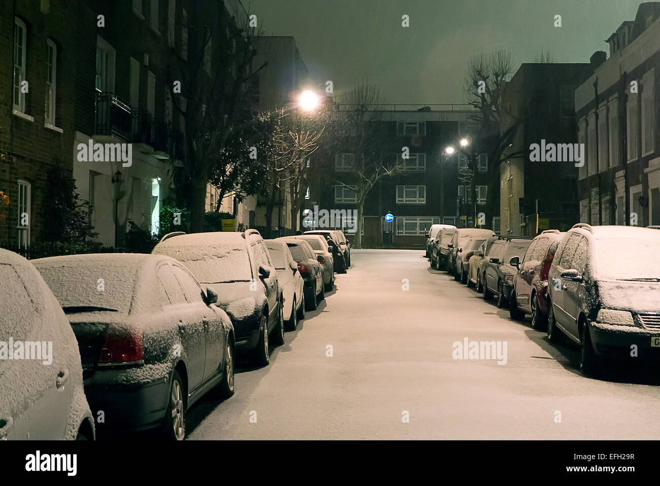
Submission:
[[[213,289],[234,324],[236,351],[269,364],[269,344],[284,344],[284,296],[259,231],[170,233],[152,253],[176,258]]]

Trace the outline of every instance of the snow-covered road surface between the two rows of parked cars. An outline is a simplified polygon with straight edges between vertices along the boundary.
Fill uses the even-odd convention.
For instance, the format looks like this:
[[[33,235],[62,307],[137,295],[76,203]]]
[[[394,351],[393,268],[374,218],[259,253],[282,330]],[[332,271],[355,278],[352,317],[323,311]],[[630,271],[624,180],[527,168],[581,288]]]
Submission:
[[[660,438],[653,373],[582,377],[577,348],[513,322],[422,251],[354,250],[352,263],[269,367],[239,369],[232,398],[189,411],[189,439]],[[506,364],[453,359],[465,338],[506,342]]]

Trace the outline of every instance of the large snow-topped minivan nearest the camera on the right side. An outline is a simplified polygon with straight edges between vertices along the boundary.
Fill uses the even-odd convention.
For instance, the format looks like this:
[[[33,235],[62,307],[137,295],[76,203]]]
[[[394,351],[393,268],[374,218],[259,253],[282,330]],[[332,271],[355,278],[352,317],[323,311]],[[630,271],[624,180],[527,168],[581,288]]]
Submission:
[[[548,339],[581,348],[579,369],[603,360],[660,357],[660,231],[579,223],[560,241],[548,274]],[[634,350],[634,352],[633,352]]]

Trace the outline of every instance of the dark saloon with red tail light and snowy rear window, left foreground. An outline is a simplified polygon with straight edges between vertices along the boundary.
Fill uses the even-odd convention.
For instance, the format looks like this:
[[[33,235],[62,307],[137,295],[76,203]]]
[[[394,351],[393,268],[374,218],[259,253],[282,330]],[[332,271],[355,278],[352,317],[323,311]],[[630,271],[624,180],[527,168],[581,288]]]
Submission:
[[[160,427],[185,437],[185,413],[218,386],[234,394],[234,328],[174,258],[137,253],[33,260],[78,340],[99,431]]]

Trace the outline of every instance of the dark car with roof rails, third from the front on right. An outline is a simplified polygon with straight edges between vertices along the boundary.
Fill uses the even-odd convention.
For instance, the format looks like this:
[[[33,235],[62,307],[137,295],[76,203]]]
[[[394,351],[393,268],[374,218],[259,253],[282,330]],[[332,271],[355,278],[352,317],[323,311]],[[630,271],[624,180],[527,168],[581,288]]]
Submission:
[[[500,237],[493,243],[486,255],[481,275],[485,300],[490,300],[495,294],[498,307],[504,307],[508,303],[513,289],[513,276],[518,270],[511,265],[511,258],[525,255],[531,242],[531,238]]]

